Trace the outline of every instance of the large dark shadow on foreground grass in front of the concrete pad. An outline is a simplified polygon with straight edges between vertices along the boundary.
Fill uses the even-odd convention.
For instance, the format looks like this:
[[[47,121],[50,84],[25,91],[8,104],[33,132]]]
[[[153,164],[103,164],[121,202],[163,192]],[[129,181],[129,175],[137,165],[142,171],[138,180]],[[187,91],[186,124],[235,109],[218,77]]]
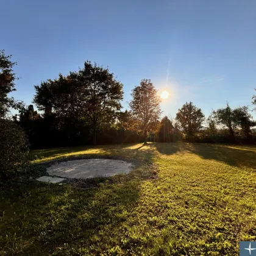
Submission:
[[[101,232],[118,230],[140,197],[139,180],[76,190],[59,185],[16,186],[1,191],[0,251],[56,255],[83,246],[94,254]],[[108,244],[108,233],[101,237]],[[90,248],[90,250],[89,250]],[[105,248],[102,248],[104,250]],[[70,251],[71,252],[71,251]]]

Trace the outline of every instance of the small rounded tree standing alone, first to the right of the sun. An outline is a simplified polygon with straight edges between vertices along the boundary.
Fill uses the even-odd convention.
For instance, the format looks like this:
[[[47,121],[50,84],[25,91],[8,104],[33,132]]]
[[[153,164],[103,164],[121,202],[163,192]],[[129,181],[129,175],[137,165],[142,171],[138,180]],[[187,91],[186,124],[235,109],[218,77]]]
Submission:
[[[194,134],[199,132],[199,129],[202,127],[204,114],[201,108],[197,108],[192,102],[186,102],[182,108],[179,108],[176,120],[187,137],[193,138]]]

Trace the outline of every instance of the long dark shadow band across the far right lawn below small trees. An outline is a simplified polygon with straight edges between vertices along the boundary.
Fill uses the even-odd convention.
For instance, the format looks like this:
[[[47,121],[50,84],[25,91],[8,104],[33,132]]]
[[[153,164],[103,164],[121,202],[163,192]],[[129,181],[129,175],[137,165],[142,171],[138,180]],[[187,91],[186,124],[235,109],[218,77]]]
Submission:
[[[213,159],[230,166],[256,169],[256,148],[254,147],[201,143],[156,143],[155,148],[161,154],[191,152],[204,159]]]

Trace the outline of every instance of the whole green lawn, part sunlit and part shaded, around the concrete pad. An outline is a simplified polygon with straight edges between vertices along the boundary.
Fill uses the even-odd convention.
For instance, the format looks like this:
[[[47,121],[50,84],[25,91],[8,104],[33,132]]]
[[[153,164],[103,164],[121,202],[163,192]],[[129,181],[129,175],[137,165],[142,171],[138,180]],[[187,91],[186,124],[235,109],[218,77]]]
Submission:
[[[256,240],[256,148],[151,143],[35,151],[151,161],[158,179],[79,190],[16,182],[0,191],[0,255],[238,255]],[[145,167],[144,167],[145,168]],[[130,174],[129,174],[130,175]]]

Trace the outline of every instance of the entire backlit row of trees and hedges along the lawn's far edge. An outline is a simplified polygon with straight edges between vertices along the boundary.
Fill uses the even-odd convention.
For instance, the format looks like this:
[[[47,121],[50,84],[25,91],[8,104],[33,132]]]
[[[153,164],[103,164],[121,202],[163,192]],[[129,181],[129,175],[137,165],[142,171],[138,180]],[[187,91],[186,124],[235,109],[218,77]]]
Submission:
[[[159,142],[255,143],[251,127],[256,123],[247,106],[232,109],[227,104],[205,118],[201,108],[193,102],[186,102],[175,118],[165,116],[161,119],[161,99],[150,79],[141,80],[140,85],[133,88],[129,110],[121,111],[123,84],[108,68],[90,61],[86,61],[78,71],[59,74],[54,80],[35,85],[32,103],[39,110],[37,112],[34,105],[26,106],[9,97],[9,93],[15,90],[15,65],[11,55],[5,55],[1,50],[0,154],[7,154],[6,157],[11,154],[8,147],[18,152],[27,149],[27,145],[30,148],[51,148],[79,144],[146,143],[149,134],[153,141]],[[256,105],[256,95],[252,96],[252,104]],[[10,115],[12,108],[18,111],[14,116]],[[20,144],[15,141],[20,141]],[[17,152],[13,150],[13,157]]]

